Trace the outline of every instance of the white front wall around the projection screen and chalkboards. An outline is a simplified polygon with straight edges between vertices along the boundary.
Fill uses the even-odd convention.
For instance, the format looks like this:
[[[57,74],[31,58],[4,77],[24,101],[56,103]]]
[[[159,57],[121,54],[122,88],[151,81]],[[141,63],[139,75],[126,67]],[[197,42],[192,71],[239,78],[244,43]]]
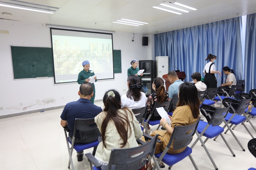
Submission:
[[[102,99],[111,88],[126,93],[130,61],[152,59],[150,38],[149,46],[142,46],[142,34],[135,34],[134,42],[132,37],[132,33],[113,33],[113,49],[121,49],[122,73],[116,73],[113,80],[97,81],[95,100]],[[54,84],[53,77],[14,80],[10,46],[51,47],[50,28],[45,24],[0,20],[0,116],[63,106],[79,99],[80,85],[76,82]]]

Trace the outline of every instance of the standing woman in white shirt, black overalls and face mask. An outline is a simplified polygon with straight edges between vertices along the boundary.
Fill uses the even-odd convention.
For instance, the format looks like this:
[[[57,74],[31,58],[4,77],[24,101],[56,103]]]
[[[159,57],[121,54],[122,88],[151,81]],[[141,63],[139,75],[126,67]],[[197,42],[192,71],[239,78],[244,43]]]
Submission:
[[[203,73],[204,76],[204,84],[206,84],[207,88],[217,88],[217,79],[215,77],[215,73],[219,73],[221,76],[221,72],[215,71],[215,63],[217,61],[217,57],[215,55],[208,54],[206,60],[209,59],[209,62],[204,66]]]

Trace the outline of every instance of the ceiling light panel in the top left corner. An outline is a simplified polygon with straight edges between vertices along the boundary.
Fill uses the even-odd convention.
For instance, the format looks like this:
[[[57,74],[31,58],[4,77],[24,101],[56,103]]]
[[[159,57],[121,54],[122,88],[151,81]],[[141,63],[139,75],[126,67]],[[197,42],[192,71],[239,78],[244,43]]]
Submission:
[[[0,0],[0,6],[52,14],[59,9],[58,7],[34,4],[31,2],[23,2],[20,0]]]

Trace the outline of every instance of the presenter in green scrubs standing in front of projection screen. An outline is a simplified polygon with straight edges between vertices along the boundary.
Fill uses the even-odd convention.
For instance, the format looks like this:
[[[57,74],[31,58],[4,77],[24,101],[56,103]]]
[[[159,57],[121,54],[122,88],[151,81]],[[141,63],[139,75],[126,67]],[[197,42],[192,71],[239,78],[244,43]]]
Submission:
[[[83,66],[83,70],[80,71],[80,73],[78,74],[78,79],[77,82],[78,84],[82,84],[83,82],[89,82],[90,79],[89,77],[94,76],[94,72],[92,70],[90,70],[90,62],[88,60],[83,61],[82,63]],[[97,81],[97,77],[94,77],[95,82]],[[95,85],[93,84],[93,97],[91,98],[91,103],[94,104],[94,99],[95,99]]]

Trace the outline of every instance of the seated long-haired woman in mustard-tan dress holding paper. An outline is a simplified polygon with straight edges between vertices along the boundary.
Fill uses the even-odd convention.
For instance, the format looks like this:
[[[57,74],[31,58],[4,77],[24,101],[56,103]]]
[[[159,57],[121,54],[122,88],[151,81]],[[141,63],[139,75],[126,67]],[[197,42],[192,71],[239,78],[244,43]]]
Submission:
[[[189,82],[184,82],[180,85],[179,93],[178,93],[179,101],[177,104],[176,110],[173,112],[173,116],[169,116],[171,119],[171,124],[168,124],[165,119],[161,119],[160,125],[163,126],[166,130],[156,130],[152,133],[152,135],[158,134],[162,138],[162,142],[160,143],[160,149],[163,151],[169,140],[171,139],[171,135],[174,130],[174,126],[187,126],[193,124],[199,118],[199,105],[200,100],[197,96],[197,88],[194,84]],[[168,154],[178,154],[184,151],[186,147],[173,150],[173,144],[170,146],[168,150]],[[152,165],[149,163],[148,169],[151,169]]]

